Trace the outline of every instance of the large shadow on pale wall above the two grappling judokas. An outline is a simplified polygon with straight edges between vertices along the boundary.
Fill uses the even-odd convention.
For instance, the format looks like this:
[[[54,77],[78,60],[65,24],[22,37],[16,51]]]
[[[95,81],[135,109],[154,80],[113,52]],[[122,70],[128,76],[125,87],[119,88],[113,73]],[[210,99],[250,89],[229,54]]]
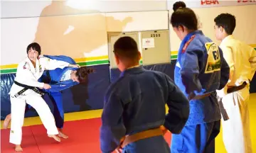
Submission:
[[[50,14],[82,15],[50,16]],[[88,14],[98,13],[98,14]],[[84,57],[84,53],[92,52],[102,45],[107,45],[106,20],[114,23],[116,31],[122,31],[132,18],[115,20],[106,17],[97,10],[84,10],[65,6],[65,1],[53,1],[46,6],[39,18],[34,42],[42,46],[43,54],[67,55],[73,58]],[[103,51],[107,55],[107,50]]]

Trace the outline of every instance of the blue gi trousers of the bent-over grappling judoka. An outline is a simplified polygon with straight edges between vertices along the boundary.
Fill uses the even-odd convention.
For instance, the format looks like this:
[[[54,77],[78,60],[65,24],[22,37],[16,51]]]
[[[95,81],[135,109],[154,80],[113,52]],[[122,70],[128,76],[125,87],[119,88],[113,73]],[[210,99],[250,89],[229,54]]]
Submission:
[[[64,124],[64,110],[63,110],[63,97],[60,92],[50,92],[48,93],[50,96],[51,102],[53,102],[53,116],[55,119],[55,125],[57,128],[62,129]],[[31,108],[28,104],[26,104],[25,113]]]

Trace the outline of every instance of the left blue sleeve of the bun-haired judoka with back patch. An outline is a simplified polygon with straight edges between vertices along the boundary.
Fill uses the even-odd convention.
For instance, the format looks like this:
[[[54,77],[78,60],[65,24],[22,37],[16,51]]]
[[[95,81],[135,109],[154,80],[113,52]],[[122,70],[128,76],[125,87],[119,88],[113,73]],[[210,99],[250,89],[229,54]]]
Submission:
[[[198,65],[198,51],[186,50],[181,55],[181,81],[186,88],[186,94],[191,94],[193,91],[200,92],[202,85],[198,79],[199,65]]]

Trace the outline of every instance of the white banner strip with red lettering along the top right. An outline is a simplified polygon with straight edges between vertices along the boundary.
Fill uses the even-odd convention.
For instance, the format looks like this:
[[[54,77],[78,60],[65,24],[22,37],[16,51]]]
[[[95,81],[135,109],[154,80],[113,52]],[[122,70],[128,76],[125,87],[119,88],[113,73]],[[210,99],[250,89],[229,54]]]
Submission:
[[[208,8],[208,7],[221,7],[221,6],[242,6],[256,4],[256,0],[183,0],[188,8]],[[168,9],[172,10],[176,1],[167,1]]]

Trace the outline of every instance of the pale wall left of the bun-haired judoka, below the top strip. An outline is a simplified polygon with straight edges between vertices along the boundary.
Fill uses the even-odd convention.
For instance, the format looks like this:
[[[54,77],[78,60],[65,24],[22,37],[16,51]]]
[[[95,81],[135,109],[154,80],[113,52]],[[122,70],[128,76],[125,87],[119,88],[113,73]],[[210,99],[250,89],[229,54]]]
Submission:
[[[2,18],[1,21],[4,38],[1,65],[23,60],[26,46],[31,42],[38,42],[45,55],[68,55],[75,59],[106,56],[107,32],[166,30],[169,24],[168,11]],[[16,56],[9,58],[10,52]]]

